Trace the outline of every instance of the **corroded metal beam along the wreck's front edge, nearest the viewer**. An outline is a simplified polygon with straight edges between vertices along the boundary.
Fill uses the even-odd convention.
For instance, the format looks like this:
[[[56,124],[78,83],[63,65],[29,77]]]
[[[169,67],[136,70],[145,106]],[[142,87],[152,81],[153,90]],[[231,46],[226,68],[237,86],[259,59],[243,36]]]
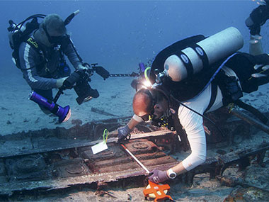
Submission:
[[[235,152],[229,152],[226,155],[219,155],[212,158],[207,158],[206,162],[201,164],[200,166],[196,167],[195,169],[191,170],[190,172],[187,172],[185,174],[181,174],[178,176],[178,179],[181,181],[185,181],[185,183],[192,184],[193,183],[193,177],[196,174],[206,173],[210,172],[210,176],[214,177],[217,175],[222,175],[225,169],[229,167],[232,164],[244,164],[245,159],[253,156],[253,155],[259,155],[261,152],[265,152],[266,150],[269,150],[269,144],[265,143],[262,145],[256,145],[255,147],[246,148],[245,150],[237,150]],[[82,150],[81,152],[84,152]],[[158,162],[161,162],[160,159],[156,159],[156,164],[152,165],[149,162],[149,159],[147,159],[147,156],[139,156],[139,158],[143,159],[143,163],[151,170],[151,169],[161,169],[165,170],[170,167],[175,166],[179,162],[172,161],[172,162],[163,162],[159,164]],[[128,158],[128,157],[127,157]],[[161,157],[163,158],[163,157]],[[164,159],[167,159],[167,157],[164,157]],[[262,161],[263,159],[260,159]],[[90,163],[91,159],[82,159],[81,163]],[[93,159],[93,162],[96,162],[95,159]],[[133,162],[135,164],[135,162]],[[76,163],[77,164],[77,163]],[[109,164],[109,162],[108,162]],[[127,162],[127,164],[130,164]],[[100,164],[99,164],[100,165]],[[102,166],[104,164],[102,163]],[[137,164],[135,164],[137,165]],[[98,164],[97,164],[98,167]],[[122,167],[122,165],[120,166]],[[110,169],[113,169],[113,167],[110,166]],[[113,181],[120,181],[122,179],[130,179],[134,177],[141,177],[143,176],[146,178],[147,173],[142,169],[141,167],[131,167],[129,169],[124,169],[120,171],[113,171],[113,172],[99,172],[99,173],[91,173],[86,174],[82,176],[69,176],[62,179],[45,179],[45,180],[39,180],[39,181],[16,181],[16,183],[4,183],[0,184],[0,195],[10,195],[13,193],[13,191],[25,191],[25,190],[55,190],[55,189],[65,189],[70,186],[86,186],[92,183],[98,183],[98,181],[102,181],[105,183],[113,182]]]

